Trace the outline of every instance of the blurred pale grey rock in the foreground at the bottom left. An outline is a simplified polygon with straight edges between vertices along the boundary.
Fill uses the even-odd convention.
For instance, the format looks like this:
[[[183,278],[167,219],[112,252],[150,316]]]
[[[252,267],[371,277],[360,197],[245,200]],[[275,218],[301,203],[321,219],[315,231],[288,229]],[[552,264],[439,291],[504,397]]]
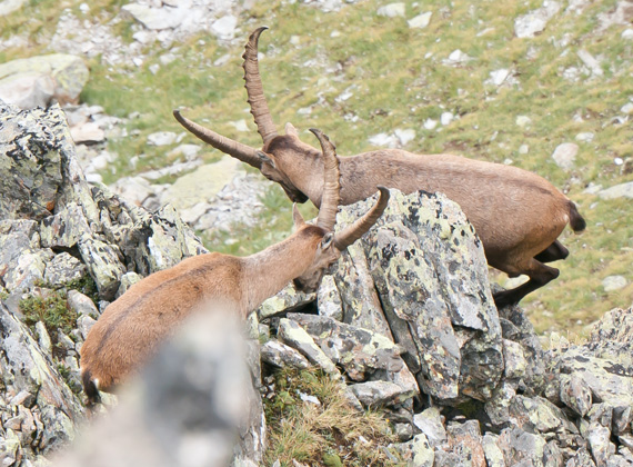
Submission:
[[[259,465],[265,424],[249,370],[259,352],[242,334],[235,314],[202,307],[53,465],[220,467],[234,455]]]

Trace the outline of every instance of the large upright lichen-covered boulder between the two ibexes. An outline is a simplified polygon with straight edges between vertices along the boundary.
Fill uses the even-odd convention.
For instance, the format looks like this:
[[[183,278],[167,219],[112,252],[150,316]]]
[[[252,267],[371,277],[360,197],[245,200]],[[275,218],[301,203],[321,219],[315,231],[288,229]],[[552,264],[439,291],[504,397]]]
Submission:
[[[391,193],[360,242],[391,334],[406,349],[405,361],[424,393],[443,403],[485,400],[502,376],[503,354],[481,242],[445,197]],[[372,201],[343,208],[339,228]],[[349,269],[338,272],[339,289]]]

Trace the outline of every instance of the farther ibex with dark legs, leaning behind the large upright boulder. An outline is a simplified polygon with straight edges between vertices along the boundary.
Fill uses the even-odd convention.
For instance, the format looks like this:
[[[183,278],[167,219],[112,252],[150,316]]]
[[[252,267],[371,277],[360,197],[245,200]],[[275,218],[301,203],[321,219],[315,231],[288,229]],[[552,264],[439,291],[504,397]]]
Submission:
[[[278,135],[272,121],[258,63],[258,41],[267,28],[257,29],[243,54],[244,81],[251,113],[263,140],[258,151],[222,137],[182,117],[177,120],[198,138],[248,165],[282,186],[295,202],[322,202],[323,182],[314,173],[323,166],[320,152],[302,142],[290,123]],[[530,280],[512,290],[495,294],[499,307],[519,302],[525,295],[559,276],[543,262],[564,259],[569,250],[556,238],[570,222],[574,231],[585,221],[575,205],[545,179],[515,167],[452,155],[414,155],[381,149],[341,159],[341,203],[370,196],[376,186],[441,191],[456,201],[474,226],[490,266],[510,277]]]

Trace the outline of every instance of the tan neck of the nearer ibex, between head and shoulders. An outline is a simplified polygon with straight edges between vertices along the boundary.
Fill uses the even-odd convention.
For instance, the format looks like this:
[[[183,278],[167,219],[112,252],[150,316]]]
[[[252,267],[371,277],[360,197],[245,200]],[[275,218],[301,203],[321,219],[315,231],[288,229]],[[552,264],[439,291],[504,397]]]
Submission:
[[[265,250],[244,258],[247,309],[254,310],[263,300],[301,276],[314,259],[314,238],[293,235]]]

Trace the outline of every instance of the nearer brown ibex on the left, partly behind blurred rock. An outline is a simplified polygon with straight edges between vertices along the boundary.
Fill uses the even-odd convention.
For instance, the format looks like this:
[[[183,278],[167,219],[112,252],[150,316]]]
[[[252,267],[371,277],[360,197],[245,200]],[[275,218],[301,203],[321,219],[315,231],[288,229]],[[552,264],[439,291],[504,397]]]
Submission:
[[[87,396],[99,399],[147,361],[200,304],[220,300],[245,318],[290,280],[300,290],[314,290],[340,251],[358,240],[378,220],[389,201],[379,187],[378,202],[360,219],[333,234],[339,206],[339,159],[334,146],[311,130],[323,149],[323,197],[316,225],[305,223],[294,206],[294,234],[245,258],[218,252],[194,256],[154,272],[133,285],[103,311],[81,348],[81,372]]]

